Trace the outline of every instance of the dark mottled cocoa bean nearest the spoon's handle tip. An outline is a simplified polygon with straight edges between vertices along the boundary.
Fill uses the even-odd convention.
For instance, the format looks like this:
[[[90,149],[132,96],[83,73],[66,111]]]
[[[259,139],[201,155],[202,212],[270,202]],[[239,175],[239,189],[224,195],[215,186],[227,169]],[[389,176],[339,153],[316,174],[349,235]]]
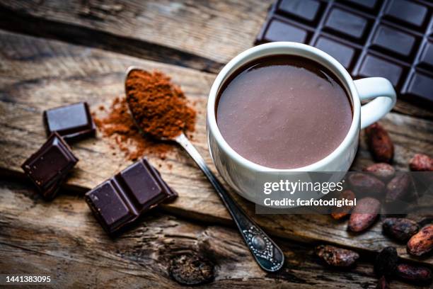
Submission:
[[[335,267],[353,266],[359,258],[359,254],[355,251],[330,245],[317,246],[316,255],[328,265]]]

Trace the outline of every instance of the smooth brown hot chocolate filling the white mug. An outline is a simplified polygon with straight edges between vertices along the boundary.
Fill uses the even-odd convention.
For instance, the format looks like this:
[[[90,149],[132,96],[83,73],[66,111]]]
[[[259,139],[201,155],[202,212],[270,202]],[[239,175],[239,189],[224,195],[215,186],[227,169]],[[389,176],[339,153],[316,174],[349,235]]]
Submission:
[[[275,169],[313,164],[340,145],[352,106],[336,77],[303,57],[263,57],[219,91],[217,124],[242,157]]]

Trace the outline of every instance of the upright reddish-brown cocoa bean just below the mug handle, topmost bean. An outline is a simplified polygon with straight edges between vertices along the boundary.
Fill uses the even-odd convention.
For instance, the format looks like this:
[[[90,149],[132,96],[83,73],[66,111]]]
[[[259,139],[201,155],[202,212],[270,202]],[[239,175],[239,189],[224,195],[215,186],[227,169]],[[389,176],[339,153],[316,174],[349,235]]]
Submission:
[[[366,128],[367,144],[376,162],[391,163],[394,157],[394,145],[388,132],[374,123]]]

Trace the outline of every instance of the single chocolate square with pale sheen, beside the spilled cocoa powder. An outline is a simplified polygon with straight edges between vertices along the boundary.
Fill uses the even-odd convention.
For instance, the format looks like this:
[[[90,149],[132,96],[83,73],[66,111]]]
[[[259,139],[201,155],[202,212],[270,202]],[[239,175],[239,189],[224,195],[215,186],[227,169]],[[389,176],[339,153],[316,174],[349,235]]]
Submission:
[[[57,132],[65,140],[79,140],[95,135],[96,126],[85,102],[60,106],[44,111],[47,135]]]

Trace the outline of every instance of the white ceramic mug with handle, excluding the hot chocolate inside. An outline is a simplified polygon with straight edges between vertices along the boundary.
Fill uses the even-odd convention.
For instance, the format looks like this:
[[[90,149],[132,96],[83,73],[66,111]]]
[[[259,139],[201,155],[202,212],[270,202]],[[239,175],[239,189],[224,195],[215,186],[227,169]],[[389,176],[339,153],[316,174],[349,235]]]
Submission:
[[[297,169],[272,169],[255,164],[235,152],[222,137],[215,116],[217,96],[224,81],[244,64],[270,55],[297,55],[306,57],[328,68],[340,79],[353,106],[350,130],[341,144],[320,161]],[[372,99],[364,106],[361,101]],[[296,42],[272,42],[250,48],[234,57],[219,72],[207,101],[207,141],[209,151],[219,174],[241,196],[258,203],[257,188],[277,172],[279,176],[301,178],[308,171],[347,171],[357,152],[359,131],[386,115],[396,104],[396,91],[388,79],[371,77],[353,80],[347,70],[327,53],[315,47]],[[299,175],[296,175],[299,172]]]

